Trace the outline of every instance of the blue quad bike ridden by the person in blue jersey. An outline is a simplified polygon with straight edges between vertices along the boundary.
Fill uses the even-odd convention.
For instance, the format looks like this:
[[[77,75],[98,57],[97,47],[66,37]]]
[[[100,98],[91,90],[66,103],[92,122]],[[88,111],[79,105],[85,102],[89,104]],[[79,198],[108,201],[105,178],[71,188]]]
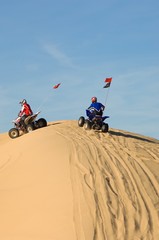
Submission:
[[[83,127],[86,130],[94,129],[94,130],[101,130],[102,132],[109,131],[108,123],[105,123],[104,120],[109,118],[109,116],[100,116],[96,115],[94,112],[90,111],[89,109],[86,110],[87,119],[81,116],[78,120],[78,126]]]

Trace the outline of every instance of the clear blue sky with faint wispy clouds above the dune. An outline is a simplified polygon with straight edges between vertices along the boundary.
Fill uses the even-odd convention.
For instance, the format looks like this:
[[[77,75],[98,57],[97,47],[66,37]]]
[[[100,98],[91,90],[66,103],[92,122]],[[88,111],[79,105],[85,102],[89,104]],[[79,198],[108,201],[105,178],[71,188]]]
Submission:
[[[0,0],[0,132],[23,98],[57,121],[78,120],[97,96],[110,127],[159,139],[158,9],[158,0]]]

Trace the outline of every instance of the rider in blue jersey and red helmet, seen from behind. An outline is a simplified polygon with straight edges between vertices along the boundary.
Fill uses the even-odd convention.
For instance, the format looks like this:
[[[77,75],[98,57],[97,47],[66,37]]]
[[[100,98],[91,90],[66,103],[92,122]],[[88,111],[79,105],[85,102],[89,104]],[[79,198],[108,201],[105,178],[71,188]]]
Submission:
[[[102,116],[103,115],[103,111],[105,109],[105,106],[100,103],[100,102],[97,102],[97,98],[96,97],[92,97],[91,98],[91,105],[89,106],[89,111],[94,113],[95,115],[99,115],[99,116]]]

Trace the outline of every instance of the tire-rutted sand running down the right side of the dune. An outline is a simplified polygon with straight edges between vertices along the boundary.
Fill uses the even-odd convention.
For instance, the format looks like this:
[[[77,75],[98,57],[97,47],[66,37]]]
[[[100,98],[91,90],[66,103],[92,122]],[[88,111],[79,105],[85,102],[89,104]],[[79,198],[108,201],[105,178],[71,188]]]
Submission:
[[[79,239],[88,240],[88,229],[91,240],[158,239],[158,214],[142,180],[148,179],[156,199],[159,183],[139,153],[133,152],[139,140],[132,137],[128,143],[124,136],[85,131],[72,124],[60,134],[71,143],[70,174]],[[157,160],[152,149],[151,156]]]

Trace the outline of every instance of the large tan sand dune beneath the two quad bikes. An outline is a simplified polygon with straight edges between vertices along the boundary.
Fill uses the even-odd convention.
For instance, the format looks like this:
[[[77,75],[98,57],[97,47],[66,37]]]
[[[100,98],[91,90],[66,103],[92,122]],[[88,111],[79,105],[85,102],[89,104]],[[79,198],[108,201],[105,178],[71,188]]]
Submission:
[[[0,134],[0,240],[158,239],[158,140],[77,121]]]

